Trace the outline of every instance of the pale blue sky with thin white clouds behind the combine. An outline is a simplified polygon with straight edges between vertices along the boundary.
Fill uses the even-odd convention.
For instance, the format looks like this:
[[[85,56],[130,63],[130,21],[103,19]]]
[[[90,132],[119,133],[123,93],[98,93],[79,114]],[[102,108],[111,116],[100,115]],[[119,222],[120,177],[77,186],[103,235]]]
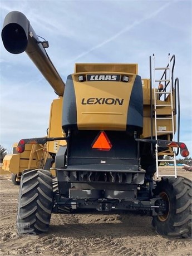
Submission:
[[[74,64],[138,63],[149,77],[149,56],[165,66],[176,56],[180,81],[180,141],[192,152],[191,1],[0,1],[0,27],[8,12],[23,12],[63,81]],[[50,105],[57,95],[26,53],[8,53],[0,40],[1,138],[11,149],[25,137],[46,135]]]

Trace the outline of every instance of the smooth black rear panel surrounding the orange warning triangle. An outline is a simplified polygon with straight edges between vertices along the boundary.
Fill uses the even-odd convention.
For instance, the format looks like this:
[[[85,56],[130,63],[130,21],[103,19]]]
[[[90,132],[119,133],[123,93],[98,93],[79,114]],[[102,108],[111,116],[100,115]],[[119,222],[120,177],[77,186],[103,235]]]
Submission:
[[[68,141],[68,165],[126,164],[138,165],[137,142],[126,131],[106,131],[111,142],[109,151],[92,149],[100,131],[72,130]]]

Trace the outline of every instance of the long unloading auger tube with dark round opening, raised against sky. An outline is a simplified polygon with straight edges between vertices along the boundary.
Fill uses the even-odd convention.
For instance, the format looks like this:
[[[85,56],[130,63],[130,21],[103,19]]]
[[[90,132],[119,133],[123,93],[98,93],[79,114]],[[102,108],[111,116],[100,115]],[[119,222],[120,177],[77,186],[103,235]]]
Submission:
[[[57,95],[63,96],[65,83],[23,13],[14,11],[7,14],[3,23],[2,41],[8,52],[19,54],[25,51]]]

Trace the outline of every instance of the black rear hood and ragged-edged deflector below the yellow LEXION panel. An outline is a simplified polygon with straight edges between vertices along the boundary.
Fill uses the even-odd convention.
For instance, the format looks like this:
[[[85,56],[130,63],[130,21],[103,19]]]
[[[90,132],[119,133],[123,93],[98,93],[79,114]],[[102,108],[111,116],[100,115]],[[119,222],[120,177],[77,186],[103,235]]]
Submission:
[[[140,169],[137,142],[127,131],[105,131],[111,149],[93,149],[101,131],[71,130],[67,141],[66,165],[57,169],[60,193],[66,184],[73,188],[119,190],[119,185],[143,184],[145,171]],[[83,184],[83,185],[82,185]],[[122,187],[122,190],[125,188]]]

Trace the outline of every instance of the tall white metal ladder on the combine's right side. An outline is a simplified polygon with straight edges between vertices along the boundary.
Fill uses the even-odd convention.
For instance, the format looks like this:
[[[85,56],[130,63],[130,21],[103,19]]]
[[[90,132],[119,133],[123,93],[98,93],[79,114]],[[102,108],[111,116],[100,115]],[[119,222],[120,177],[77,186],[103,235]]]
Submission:
[[[173,99],[173,68],[171,68],[171,57],[168,55],[168,66],[166,67],[155,67],[155,55],[153,55],[153,90],[154,90],[154,119],[155,119],[155,140],[158,139],[159,135],[168,134],[170,140],[170,135],[174,141],[175,125],[174,125],[174,99]],[[163,76],[157,79],[158,72],[163,71]],[[162,100],[164,98],[164,100]],[[166,107],[166,114],[161,112],[160,109]],[[166,124],[169,121],[169,130],[166,130]],[[158,124],[161,123],[161,126]],[[170,159],[162,159],[162,156],[168,155]],[[176,174],[176,153],[171,149],[158,152],[158,146],[155,145],[155,159],[156,159],[156,177],[159,176],[174,176]],[[174,174],[160,175],[159,174],[159,163],[169,162],[174,166]]]

